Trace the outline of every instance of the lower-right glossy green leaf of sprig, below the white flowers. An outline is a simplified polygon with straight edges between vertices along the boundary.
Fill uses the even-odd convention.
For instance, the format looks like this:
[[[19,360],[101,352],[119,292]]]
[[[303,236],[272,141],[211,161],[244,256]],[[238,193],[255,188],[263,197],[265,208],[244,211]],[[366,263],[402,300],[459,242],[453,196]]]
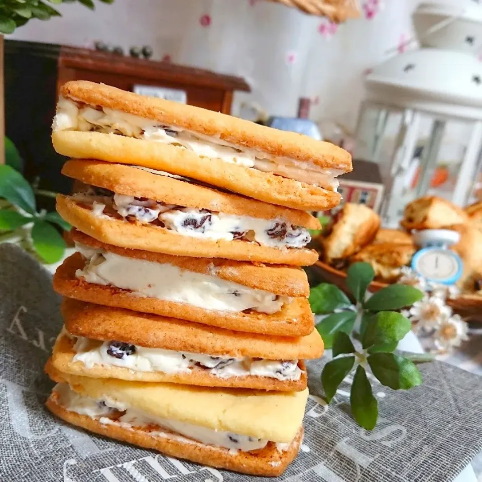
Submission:
[[[368,363],[379,382],[393,390],[408,390],[422,383],[417,367],[395,353],[374,353],[368,357]]]

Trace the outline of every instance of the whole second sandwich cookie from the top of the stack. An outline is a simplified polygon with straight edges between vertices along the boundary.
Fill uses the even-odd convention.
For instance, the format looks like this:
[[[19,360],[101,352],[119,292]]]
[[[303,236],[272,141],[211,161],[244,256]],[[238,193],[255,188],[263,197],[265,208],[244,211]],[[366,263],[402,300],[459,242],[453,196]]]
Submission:
[[[319,228],[319,221],[307,212],[121,164],[70,160],[62,173],[85,186],[83,192],[60,198],[59,211],[105,242],[269,263],[311,265],[317,260],[305,246],[309,229]]]

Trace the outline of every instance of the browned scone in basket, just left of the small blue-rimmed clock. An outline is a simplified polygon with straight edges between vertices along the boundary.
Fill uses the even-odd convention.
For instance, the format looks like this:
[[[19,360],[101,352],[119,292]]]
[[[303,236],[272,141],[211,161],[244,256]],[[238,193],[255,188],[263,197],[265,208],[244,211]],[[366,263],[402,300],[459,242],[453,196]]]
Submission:
[[[350,263],[369,263],[375,271],[376,280],[393,283],[400,276],[400,268],[410,264],[415,251],[414,245],[394,243],[369,245],[353,255]]]

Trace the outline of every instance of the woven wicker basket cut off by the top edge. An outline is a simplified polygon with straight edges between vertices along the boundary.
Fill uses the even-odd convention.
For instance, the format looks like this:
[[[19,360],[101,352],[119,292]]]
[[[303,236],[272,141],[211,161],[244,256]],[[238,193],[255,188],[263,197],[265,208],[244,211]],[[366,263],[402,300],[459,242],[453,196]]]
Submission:
[[[272,0],[302,12],[327,17],[332,22],[344,22],[360,14],[358,0]]]

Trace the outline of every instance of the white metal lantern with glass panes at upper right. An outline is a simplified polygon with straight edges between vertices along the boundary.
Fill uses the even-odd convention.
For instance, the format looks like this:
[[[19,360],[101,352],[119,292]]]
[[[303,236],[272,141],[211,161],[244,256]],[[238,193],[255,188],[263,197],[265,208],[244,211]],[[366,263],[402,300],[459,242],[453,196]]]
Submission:
[[[357,125],[354,157],[380,164],[387,226],[425,194],[467,204],[481,168],[482,5],[425,2],[413,22],[420,48],[367,75]]]

